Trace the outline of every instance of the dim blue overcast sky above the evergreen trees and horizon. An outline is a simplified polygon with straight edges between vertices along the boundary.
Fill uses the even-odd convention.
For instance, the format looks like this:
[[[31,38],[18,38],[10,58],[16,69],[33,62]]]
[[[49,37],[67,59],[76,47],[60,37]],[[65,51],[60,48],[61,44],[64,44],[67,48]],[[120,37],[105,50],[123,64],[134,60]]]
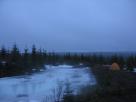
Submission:
[[[136,51],[136,0],[0,0],[0,45]]]

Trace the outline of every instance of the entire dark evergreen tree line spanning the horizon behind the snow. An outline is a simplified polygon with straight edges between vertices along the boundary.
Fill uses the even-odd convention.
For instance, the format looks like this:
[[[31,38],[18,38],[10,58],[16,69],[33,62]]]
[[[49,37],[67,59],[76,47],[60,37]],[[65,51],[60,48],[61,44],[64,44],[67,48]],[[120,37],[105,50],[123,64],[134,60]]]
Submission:
[[[27,48],[23,52],[19,50],[16,44],[8,50],[4,46],[0,49],[0,76],[13,76],[32,71],[39,71],[45,64],[73,64],[79,65],[111,65],[118,63],[123,69],[133,70],[136,67],[136,56],[124,57],[121,55],[104,56],[97,54],[78,54],[78,53],[55,53],[47,52],[43,49],[37,49],[32,46],[31,51]]]

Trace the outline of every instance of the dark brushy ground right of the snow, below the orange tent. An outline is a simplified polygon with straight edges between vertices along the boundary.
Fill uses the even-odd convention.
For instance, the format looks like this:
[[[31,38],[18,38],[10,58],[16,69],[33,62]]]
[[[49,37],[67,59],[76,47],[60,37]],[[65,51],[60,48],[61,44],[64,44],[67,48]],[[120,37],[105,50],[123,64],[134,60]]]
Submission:
[[[103,66],[93,66],[91,70],[97,85],[84,89],[73,102],[136,102],[136,73]]]

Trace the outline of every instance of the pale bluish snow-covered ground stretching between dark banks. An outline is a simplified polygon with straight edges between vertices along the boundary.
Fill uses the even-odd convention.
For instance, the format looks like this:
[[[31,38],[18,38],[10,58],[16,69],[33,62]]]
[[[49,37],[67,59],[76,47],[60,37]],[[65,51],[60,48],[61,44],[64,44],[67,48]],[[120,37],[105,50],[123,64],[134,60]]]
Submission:
[[[46,65],[46,70],[30,76],[0,79],[0,102],[54,102],[67,86],[73,94],[79,89],[96,84],[88,68],[69,65]]]

